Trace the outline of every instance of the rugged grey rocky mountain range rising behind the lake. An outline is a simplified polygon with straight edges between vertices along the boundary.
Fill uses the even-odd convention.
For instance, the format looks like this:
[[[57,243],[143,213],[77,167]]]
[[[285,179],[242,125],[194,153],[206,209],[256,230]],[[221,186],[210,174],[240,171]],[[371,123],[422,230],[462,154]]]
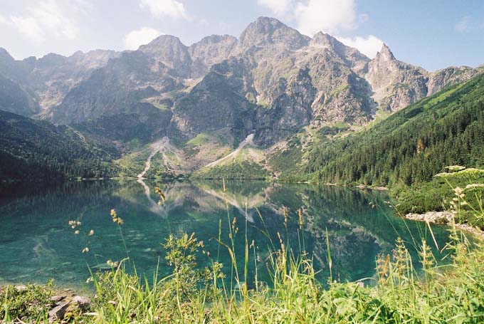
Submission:
[[[233,160],[270,170],[264,155],[292,135],[303,134],[304,146],[323,127],[357,129],[478,73],[428,72],[386,45],[370,59],[327,33],[310,38],[260,17],[238,38],[191,46],[162,35],[137,51],[23,61],[2,48],[0,110],[70,125],[124,153],[167,137],[179,149],[175,160],[186,162],[163,157],[174,173],[214,166],[236,149],[243,154]],[[242,144],[261,152],[245,154]]]

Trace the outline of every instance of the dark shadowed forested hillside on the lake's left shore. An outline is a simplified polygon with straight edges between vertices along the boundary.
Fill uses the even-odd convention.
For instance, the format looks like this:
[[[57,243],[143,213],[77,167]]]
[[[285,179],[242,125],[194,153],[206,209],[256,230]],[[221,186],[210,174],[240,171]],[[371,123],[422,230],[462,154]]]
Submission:
[[[0,110],[0,182],[116,174],[114,147],[93,140],[67,126]]]

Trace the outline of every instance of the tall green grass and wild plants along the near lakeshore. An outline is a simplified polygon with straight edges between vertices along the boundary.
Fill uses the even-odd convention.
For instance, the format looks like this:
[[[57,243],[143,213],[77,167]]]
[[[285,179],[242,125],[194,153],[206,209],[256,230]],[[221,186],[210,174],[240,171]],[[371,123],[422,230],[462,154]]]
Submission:
[[[223,183],[225,184],[225,182]],[[164,201],[164,194],[155,190]],[[223,185],[225,194],[225,185]],[[460,196],[459,196],[460,197]],[[458,198],[459,204],[461,198]],[[456,204],[458,206],[458,204]],[[246,207],[247,209],[247,207]],[[459,212],[460,209],[456,209]],[[283,209],[287,224],[287,209]],[[115,226],[122,219],[111,211]],[[262,219],[261,214],[259,216]],[[302,232],[305,219],[299,213],[298,246],[304,246]],[[312,258],[304,252],[295,254],[285,233],[270,241],[270,254],[264,260],[270,281],[263,282],[256,272],[248,275],[248,264],[256,262],[256,244],[239,236],[238,221],[228,213],[228,241],[215,238],[220,249],[230,256],[222,265],[206,251],[204,242],[194,234],[170,235],[164,241],[165,261],[172,267],[169,276],[152,280],[137,276],[129,256],[118,262],[108,261],[109,271],[93,273],[93,305],[78,313],[73,323],[483,323],[484,322],[484,246],[477,239],[469,241],[450,224],[451,241],[439,247],[446,251],[447,262],[433,256],[434,239],[422,240],[418,260],[412,259],[404,241],[397,240],[391,255],[383,255],[375,264],[376,275],[357,282],[339,282],[332,277],[330,240],[326,235],[327,282],[316,279]],[[221,225],[219,225],[221,226]],[[430,225],[428,225],[430,228]],[[287,227],[286,227],[287,228]],[[263,229],[267,232],[267,229]],[[242,240],[245,251],[234,253],[236,240]],[[124,239],[123,244],[126,245]],[[126,249],[126,251],[129,251]],[[128,252],[127,252],[128,254]],[[201,268],[197,261],[209,259]],[[421,267],[416,267],[419,263]],[[228,267],[224,276],[222,268]],[[128,271],[130,270],[130,271]],[[134,274],[130,274],[134,273]],[[0,315],[6,323],[15,318],[43,323],[46,308],[25,310],[25,305],[38,305],[48,299],[46,293],[12,294],[3,288]],[[30,290],[26,290],[30,291]],[[33,296],[33,298],[32,298]],[[38,296],[38,297],[36,297]],[[24,301],[24,302],[23,302]],[[20,303],[20,306],[19,306]]]

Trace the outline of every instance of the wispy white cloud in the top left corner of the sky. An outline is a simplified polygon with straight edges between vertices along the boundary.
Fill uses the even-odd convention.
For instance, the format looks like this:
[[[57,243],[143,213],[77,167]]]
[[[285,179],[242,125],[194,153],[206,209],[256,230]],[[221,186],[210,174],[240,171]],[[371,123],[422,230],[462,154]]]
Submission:
[[[58,0],[38,1],[26,8],[25,15],[0,17],[0,22],[14,26],[19,33],[34,41],[44,41],[52,36],[74,39],[78,36],[77,16],[83,4],[66,4]]]

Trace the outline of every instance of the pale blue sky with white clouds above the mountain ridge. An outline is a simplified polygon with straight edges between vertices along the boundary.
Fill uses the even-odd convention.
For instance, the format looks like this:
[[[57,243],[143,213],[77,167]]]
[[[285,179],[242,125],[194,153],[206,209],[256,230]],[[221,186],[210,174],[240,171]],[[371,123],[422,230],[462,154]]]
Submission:
[[[16,59],[69,56],[136,49],[161,34],[189,46],[238,37],[258,16],[330,33],[370,58],[386,43],[427,70],[484,63],[483,0],[0,0],[0,47]]]

